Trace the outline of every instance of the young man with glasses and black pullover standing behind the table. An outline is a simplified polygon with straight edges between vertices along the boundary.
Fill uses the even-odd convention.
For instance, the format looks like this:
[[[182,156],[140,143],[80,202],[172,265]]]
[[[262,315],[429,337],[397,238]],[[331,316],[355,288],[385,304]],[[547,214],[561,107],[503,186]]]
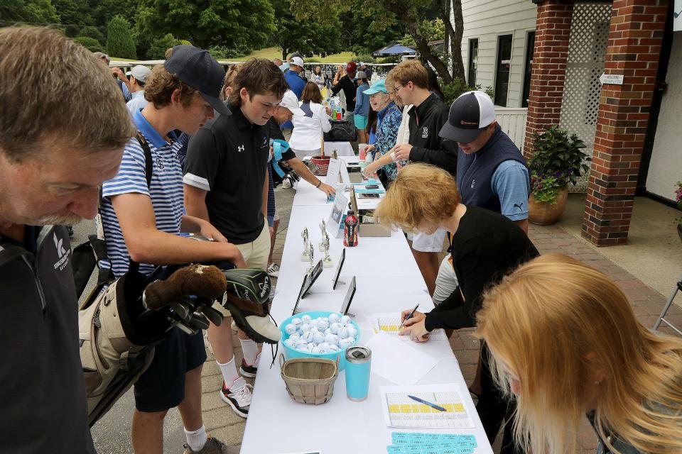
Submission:
[[[450,172],[457,173],[457,143],[443,140],[438,131],[448,122],[448,106],[437,95],[428,91],[428,73],[417,60],[399,63],[390,75],[394,81],[394,93],[403,104],[413,104],[409,111],[410,142],[396,145],[393,149],[398,160],[426,162]],[[435,290],[438,275],[438,253],[443,250],[446,232],[439,228],[432,235],[416,233],[412,240],[412,253],[429,294]]]

